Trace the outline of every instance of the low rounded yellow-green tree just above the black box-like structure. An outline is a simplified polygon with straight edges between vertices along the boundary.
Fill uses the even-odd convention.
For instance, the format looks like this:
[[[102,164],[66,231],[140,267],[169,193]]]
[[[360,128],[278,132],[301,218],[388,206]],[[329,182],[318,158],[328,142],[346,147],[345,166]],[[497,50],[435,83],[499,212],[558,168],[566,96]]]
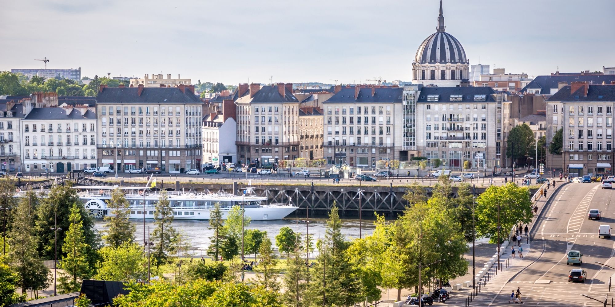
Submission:
[[[143,247],[124,242],[120,246],[100,249],[101,260],[96,264],[94,279],[103,281],[133,281],[147,279],[148,260],[143,257]]]

